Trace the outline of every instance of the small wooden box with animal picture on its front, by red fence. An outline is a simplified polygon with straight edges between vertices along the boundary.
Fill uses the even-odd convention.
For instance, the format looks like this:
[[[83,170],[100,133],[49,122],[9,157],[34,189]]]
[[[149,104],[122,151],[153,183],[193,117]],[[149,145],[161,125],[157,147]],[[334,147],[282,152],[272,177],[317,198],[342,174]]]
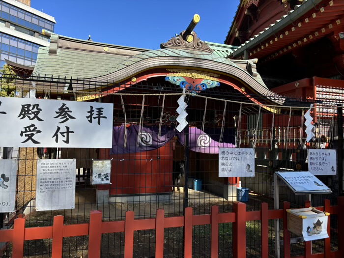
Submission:
[[[299,236],[305,237],[307,230],[312,230],[313,225],[315,226],[317,221],[321,221],[321,223],[323,223],[323,221],[325,220],[326,225],[323,225],[324,229],[322,228],[321,230],[325,232],[327,230],[327,216],[330,215],[328,212],[323,212],[313,207],[310,207],[303,209],[288,209],[287,213],[288,230]],[[320,233],[315,232],[314,234]]]

